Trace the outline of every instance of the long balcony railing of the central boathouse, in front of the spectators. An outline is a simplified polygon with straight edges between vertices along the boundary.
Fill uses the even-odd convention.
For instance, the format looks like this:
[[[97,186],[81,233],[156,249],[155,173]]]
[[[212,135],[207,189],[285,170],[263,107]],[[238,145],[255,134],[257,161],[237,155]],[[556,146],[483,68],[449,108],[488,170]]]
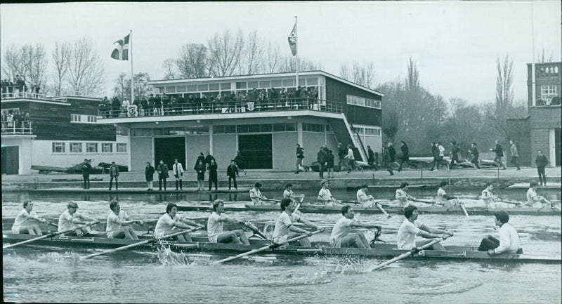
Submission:
[[[341,113],[344,104],[317,98],[293,98],[288,100],[234,101],[228,103],[199,103],[198,105],[167,105],[148,106],[137,105],[129,107],[100,107],[98,114],[101,118],[151,117],[197,114],[231,114],[254,112],[279,112],[311,110],[318,112]]]

